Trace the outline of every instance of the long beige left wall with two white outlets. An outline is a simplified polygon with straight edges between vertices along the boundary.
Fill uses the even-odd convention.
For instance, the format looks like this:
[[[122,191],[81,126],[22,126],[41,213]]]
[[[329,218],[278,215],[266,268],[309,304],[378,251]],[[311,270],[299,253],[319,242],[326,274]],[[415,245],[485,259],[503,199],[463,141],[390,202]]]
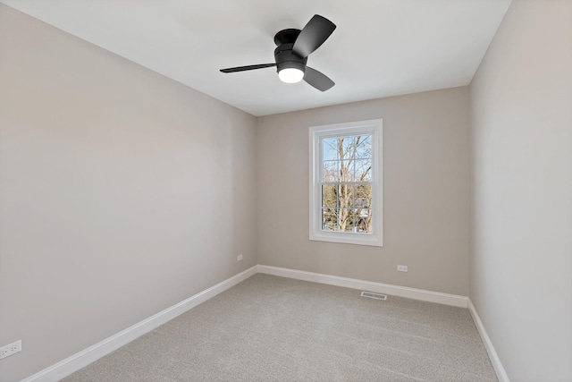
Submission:
[[[255,159],[253,116],[0,4],[0,380],[257,264]]]

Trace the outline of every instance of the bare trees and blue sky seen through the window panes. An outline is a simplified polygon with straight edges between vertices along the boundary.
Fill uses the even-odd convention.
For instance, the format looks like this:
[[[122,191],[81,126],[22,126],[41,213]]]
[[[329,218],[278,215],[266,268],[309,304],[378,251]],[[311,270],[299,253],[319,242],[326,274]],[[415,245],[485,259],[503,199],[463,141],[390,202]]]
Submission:
[[[321,139],[322,229],[372,233],[372,136]]]

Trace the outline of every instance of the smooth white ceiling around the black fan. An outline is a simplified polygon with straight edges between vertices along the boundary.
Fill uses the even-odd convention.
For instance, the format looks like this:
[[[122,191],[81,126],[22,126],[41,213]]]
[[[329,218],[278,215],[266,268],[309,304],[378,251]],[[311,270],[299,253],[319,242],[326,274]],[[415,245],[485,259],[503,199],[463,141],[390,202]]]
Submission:
[[[510,0],[0,0],[252,115],[467,85]],[[337,25],[308,65],[336,85],[282,83],[274,34]]]

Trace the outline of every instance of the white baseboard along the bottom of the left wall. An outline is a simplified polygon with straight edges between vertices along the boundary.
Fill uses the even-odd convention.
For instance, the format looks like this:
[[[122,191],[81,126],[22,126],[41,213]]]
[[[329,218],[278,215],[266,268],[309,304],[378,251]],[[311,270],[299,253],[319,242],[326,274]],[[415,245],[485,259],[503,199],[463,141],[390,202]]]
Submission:
[[[172,318],[196,307],[198,304],[213,298],[219,293],[223,293],[227,289],[239,284],[241,281],[246,280],[248,277],[253,276],[256,273],[257,266],[250,267],[236,276],[227,278],[223,282],[216,284],[203,292],[197,293],[185,301],[181,301],[154,316],[144,319],[132,327],[122,330],[116,335],[105,338],[105,340],[89,346],[81,352],[71,355],[71,357],[68,357],[65,360],[60,361],[47,369],[43,369],[29,378],[23,379],[21,382],[59,381],[60,379],[69,376],[71,373],[88,366],[91,362],[97,361],[110,352],[114,352],[114,350],[119,349],[123,345],[129,344],[139,336],[144,335],[156,327],[163,325],[165,322],[172,320]]]

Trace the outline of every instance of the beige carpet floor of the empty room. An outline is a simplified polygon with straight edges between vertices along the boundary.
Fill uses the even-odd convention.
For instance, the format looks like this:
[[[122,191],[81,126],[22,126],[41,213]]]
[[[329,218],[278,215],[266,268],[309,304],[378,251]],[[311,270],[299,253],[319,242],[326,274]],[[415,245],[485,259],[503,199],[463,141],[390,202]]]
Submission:
[[[496,381],[467,309],[257,274],[80,381]]]

